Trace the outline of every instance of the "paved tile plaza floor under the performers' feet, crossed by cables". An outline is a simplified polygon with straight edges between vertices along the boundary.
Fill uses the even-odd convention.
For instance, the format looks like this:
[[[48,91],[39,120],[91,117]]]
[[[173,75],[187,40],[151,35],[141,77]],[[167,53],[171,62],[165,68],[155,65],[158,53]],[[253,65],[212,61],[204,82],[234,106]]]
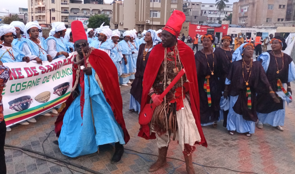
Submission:
[[[292,86],[295,84],[293,83]],[[139,131],[138,114],[129,113],[129,90],[130,86],[121,88],[123,98],[123,115],[126,127],[130,135],[130,141],[124,147],[137,150],[139,152],[158,154],[155,140],[144,140],[137,137]],[[295,88],[293,88],[295,92]],[[295,102],[290,103],[286,108],[285,130],[264,125],[263,129],[256,129],[251,138],[236,133],[234,136],[228,135],[222,123],[217,128],[212,126],[203,127],[203,131],[208,142],[208,147],[198,146],[193,154],[193,161],[198,164],[226,167],[238,171],[251,171],[259,174],[292,174],[295,173]],[[11,132],[6,134],[6,144],[25,147],[28,149],[43,152],[42,143],[54,129],[55,117],[40,116],[36,118],[37,123],[30,125],[16,125]],[[46,154],[57,158],[69,160],[78,165],[101,173],[148,173],[147,170],[152,162],[145,161],[143,158],[124,153],[123,158],[117,164],[111,164],[110,158],[114,153],[111,145],[100,148],[99,153],[81,156],[78,158],[68,158],[61,154],[59,147],[52,143],[57,140],[53,132],[44,143]],[[125,150],[126,152],[131,152]],[[133,153],[133,152],[131,152]],[[66,167],[31,158],[18,150],[5,149],[6,165],[8,174],[71,174]],[[148,160],[156,158],[149,155],[142,155]],[[168,157],[183,159],[183,154],[177,142],[171,142],[168,150]],[[178,167],[183,162],[168,160],[170,162],[158,170],[157,174],[173,172],[173,167]],[[209,174],[236,174],[225,169],[205,167]],[[205,170],[195,165],[195,172],[205,174]],[[73,173],[78,173],[74,172]],[[186,173],[185,165],[177,168],[174,173]]]

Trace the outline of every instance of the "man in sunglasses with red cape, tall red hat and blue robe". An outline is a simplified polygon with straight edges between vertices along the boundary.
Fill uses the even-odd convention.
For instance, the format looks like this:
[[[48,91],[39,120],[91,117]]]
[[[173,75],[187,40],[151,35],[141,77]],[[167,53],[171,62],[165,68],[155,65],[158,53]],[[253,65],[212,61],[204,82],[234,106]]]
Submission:
[[[107,53],[89,48],[81,21],[73,21],[71,26],[78,54],[71,95],[55,122],[58,144],[64,155],[74,158],[96,152],[99,145],[115,143],[111,159],[115,163],[124,152],[122,144],[130,139],[122,114],[117,68]]]

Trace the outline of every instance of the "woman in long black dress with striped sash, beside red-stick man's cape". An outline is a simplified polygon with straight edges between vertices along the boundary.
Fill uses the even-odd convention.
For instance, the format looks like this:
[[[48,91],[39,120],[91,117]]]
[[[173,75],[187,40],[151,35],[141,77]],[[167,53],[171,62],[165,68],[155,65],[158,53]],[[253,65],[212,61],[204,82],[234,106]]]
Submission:
[[[205,34],[201,38],[203,49],[195,54],[195,62],[198,76],[198,90],[200,96],[201,125],[217,127],[220,111],[221,89],[218,78],[219,66],[211,45],[215,38],[211,34]]]

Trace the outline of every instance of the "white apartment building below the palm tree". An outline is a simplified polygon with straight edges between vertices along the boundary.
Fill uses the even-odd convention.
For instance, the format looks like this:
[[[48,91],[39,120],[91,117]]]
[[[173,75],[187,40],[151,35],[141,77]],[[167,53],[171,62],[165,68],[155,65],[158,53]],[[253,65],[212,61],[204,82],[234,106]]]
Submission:
[[[225,16],[230,15],[233,12],[233,5],[226,4],[226,8],[219,11],[215,4],[201,4],[201,15],[206,16],[207,24],[218,24],[219,20],[223,20]]]

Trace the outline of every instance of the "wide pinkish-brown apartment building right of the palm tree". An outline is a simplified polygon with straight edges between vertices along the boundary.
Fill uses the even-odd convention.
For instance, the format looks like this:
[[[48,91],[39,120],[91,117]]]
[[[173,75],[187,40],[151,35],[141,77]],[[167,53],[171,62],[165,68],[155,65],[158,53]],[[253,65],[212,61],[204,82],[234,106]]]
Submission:
[[[287,2],[288,0],[239,0],[233,4],[231,24],[253,27],[285,21]]]

